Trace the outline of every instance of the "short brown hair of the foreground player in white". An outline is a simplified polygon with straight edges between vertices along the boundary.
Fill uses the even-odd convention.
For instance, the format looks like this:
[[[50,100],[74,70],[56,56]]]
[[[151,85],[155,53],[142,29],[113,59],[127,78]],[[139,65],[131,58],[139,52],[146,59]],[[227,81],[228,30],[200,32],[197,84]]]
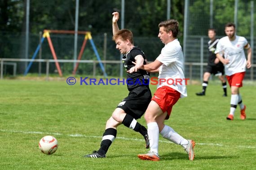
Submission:
[[[166,20],[162,21],[159,23],[158,27],[164,27],[164,30],[166,32],[172,31],[172,35],[174,38],[177,37],[179,33],[179,22],[177,20],[171,19],[171,20]]]

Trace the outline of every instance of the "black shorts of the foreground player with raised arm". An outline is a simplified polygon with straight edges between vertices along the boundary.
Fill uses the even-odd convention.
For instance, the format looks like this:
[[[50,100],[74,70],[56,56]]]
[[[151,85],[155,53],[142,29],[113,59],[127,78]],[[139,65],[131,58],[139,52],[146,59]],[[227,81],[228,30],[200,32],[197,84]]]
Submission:
[[[145,113],[152,95],[146,86],[139,86],[129,92],[128,96],[118,104],[116,108],[121,108],[126,114],[134,119],[140,119]]]

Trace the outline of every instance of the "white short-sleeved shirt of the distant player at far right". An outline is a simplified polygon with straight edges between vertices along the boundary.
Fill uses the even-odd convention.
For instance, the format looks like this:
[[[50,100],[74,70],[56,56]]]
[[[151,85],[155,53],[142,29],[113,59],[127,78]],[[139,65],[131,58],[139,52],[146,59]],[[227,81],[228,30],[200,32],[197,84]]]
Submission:
[[[229,64],[225,64],[225,74],[227,76],[246,71],[246,58],[243,48],[247,43],[244,37],[237,35],[235,35],[234,41],[230,41],[228,36],[220,39],[215,54],[224,52],[225,59],[230,60]]]

